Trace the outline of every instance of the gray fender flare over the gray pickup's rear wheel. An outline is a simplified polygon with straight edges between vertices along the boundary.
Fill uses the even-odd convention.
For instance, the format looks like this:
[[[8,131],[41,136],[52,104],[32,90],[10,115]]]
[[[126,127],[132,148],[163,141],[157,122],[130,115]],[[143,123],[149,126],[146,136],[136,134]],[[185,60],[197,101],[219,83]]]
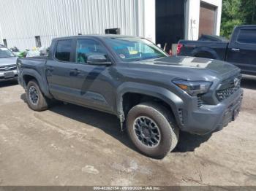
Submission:
[[[42,77],[34,69],[23,69],[22,74],[21,74],[22,79],[23,79],[23,84],[25,84],[25,82],[24,82],[24,76],[25,75],[29,75],[29,76],[34,77],[35,79],[37,79],[37,82],[39,83],[39,87],[42,90],[42,93],[48,98],[53,98],[53,96],[50,95],[48,82],[46,81],[46,78]]]

